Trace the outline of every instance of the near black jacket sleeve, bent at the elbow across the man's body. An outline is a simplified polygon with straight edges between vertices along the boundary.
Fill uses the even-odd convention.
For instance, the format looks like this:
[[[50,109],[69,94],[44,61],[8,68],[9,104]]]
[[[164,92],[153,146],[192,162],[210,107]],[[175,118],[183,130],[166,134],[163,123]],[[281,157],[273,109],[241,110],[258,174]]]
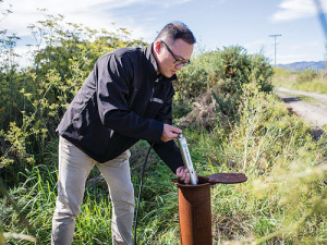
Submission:
[[[128,109],[129,85],[133,65],[129,56],[108,54],[95,68],[97,102],[104,125],[124,136],[160,142],[164,123],[145,119]]]

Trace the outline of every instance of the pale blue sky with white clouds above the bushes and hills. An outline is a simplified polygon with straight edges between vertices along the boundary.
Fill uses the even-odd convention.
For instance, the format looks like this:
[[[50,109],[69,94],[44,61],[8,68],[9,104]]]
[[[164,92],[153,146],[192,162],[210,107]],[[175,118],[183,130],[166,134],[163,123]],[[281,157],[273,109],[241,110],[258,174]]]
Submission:
[[[319,1],[326,12],[327,0]],[[247,53],[262,52],[271,64],[275,50],[278,64],[326,60],[315,0],[0,0],[0,28],[21,38],[19,53],[36,45],[27,26],[45,20],[38,9],[94,29],[126,28],[146,42],[167,23],[181,21],[195,35],[197,51],[242,46]]]

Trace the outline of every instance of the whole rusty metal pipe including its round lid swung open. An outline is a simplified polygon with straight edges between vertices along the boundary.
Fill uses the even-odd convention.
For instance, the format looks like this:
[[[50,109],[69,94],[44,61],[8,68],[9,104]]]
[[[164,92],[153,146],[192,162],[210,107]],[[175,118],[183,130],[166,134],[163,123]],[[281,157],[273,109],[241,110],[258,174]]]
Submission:
[[[210,186],[215,184],[243,183],[243,173],[215,173],[198,176],[197,185],[186,185],[178,179],[172,182],[179,188],[179,215],[182,245],[211,245]]]

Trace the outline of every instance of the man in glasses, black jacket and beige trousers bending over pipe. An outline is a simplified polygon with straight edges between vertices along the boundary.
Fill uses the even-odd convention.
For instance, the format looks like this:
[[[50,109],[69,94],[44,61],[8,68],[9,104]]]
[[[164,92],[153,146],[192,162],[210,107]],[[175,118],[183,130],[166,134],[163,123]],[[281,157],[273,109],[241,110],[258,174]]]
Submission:
[[[97,166],[112,201],[112,244],[132,244],[134,189],[129,148],[138,139],[186,183],[190,174],[171,126],[175,72],[190,63],[195,38],[183,23],[166,25],[146,49],[120,48],[96,62],[58,126],[59,181],[52,244],[71,244],[85,181]]]

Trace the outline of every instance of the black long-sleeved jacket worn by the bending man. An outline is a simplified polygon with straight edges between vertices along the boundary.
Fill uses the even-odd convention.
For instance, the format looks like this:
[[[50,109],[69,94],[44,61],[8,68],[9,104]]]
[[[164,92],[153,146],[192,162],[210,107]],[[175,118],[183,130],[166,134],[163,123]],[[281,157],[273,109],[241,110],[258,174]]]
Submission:
[[[120,48],[96,62],[61,120],[59,134],[96,161],[114,159],[138,139],[155,142],[155,151],[175,172],[183,166],[173,140],[160,140],[171,124],[172,81],[157,77],[157,62],[146,49]]]

